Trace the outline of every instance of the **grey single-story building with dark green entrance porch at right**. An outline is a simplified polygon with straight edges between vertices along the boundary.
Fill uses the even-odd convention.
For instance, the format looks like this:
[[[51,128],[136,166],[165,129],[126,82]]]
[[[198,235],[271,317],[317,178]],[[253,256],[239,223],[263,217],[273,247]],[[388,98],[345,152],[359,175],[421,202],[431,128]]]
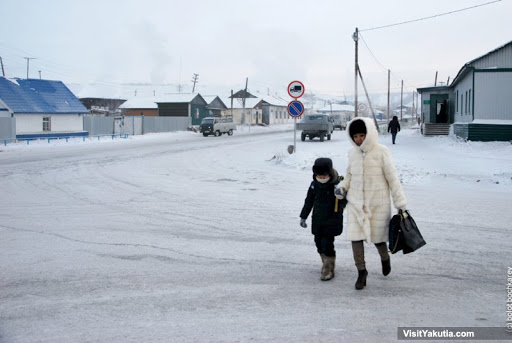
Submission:
[[[464,64],[449,86],[419,88],[424,135],[512,140],[512,41]]]

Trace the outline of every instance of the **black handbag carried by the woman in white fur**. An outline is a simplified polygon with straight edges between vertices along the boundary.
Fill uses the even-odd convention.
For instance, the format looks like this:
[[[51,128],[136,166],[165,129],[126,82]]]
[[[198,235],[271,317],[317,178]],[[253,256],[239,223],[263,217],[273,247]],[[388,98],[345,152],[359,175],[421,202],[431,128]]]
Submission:
[[[404,214],[407,214],[404,216]],[[404,218],[405,217],[405,218]],[[409,211],[400,210],[389,221],[389,250],[392,254],[402,250],[404,254],[418,250],[427,244]]]

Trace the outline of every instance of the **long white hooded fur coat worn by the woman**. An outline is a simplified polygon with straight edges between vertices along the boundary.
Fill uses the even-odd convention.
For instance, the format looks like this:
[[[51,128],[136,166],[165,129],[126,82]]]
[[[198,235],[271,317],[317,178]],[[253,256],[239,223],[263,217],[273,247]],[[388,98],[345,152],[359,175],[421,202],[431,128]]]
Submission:
[[[354,120],[363,120],[366,125],[366,139],[361,146],[350,137],[350,125]],[[347,192],[347,239],[387,242],[390,197],[396,209],[405,210],[407,206],[393,159],[388,148],[377,142],[379,133],[370,118],[354,118],[347,126],[347,133],[354,148],[349,151],[345,180],[338,186]]]

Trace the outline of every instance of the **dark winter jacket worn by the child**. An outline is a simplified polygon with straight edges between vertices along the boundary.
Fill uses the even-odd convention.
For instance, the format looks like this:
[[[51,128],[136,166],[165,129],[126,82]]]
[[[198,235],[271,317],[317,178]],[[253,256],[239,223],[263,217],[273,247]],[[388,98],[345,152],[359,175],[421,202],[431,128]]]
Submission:
[[[316,181],[309,186],[300,217],[307,219],[313,210],[311,233],[313,235],[338,236],[343,231],[343,208],[346,200],[338,200],[334,196],[334,187],[343,180],[336,169],[331,168],[331,178],[327,183]]]

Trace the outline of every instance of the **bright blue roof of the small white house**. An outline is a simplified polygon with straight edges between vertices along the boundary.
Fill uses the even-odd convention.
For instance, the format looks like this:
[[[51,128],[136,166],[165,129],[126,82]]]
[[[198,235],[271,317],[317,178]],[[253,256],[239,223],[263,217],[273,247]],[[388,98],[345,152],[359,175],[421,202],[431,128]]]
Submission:
[[[0,77],[0,99],[14,113],[77,114],[89,111],[61,81]]]

